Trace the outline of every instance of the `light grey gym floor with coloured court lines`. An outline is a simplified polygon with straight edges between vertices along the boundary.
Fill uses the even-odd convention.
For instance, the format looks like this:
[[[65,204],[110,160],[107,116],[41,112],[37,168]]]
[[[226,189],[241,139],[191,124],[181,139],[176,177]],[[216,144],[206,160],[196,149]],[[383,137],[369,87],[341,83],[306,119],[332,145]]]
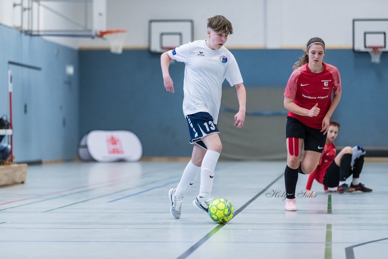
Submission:
[[[199,179],[172,218],[168,190],[185,164],[29,166],[25,184],[0,188],[0,258],[388,258],[388,163],[365,163],[372,193],[314,183],[317,196],[286,212],[270,197],[284,192],[285,162],[220,161],[212,196],[235,210],[223,225],[192,205]]]

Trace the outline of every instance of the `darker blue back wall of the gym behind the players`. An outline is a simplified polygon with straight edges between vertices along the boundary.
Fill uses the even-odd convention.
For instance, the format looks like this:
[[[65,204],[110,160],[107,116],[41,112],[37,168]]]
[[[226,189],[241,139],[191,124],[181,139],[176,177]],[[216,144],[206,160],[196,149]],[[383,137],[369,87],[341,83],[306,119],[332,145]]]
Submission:
[[[231,51],[246,87],[284,88],[293,63],[303,54],[302,50]],[[127,129],[140,137],[144,156],[191,155],[182,113],[183,63],[170,65],[175,88],[171,94],[163,86],[159,54],[81,50],[79,57],[81,135],[92,129]],[[341,123],[336,145],[387,148],[388,54],[383,54],[380,64],[372,64],[368,53],[329,49],[324,61],[339,69],[342,80],[342,98],[332,117]]]

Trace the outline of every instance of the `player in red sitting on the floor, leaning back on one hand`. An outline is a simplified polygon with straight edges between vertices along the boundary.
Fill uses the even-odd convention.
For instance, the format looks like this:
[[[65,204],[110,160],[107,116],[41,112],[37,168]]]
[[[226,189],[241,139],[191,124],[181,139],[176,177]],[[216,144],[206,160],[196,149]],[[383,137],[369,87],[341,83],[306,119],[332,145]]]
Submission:
[[[338,136],[340,123],[330,122],[329,130],[327,131],[327,139],[325,148],[320,156],[317,168],[308,176],[306,190],[308,194],[311,191],[312,183],[317,180],[318,183],[324,185],[324,189],[337,191],[339,193],[364,191],[370,192],[369,189],[360,183],[360,173],[364,165],[365,150],[362,146],[351,148],[346,146],[338,155],[336,155],[336,146],[334,139]],[[350,187],[345,183],[346,178],[353,174],[353,180]],[[334,189],[331,189],[334,188]]]

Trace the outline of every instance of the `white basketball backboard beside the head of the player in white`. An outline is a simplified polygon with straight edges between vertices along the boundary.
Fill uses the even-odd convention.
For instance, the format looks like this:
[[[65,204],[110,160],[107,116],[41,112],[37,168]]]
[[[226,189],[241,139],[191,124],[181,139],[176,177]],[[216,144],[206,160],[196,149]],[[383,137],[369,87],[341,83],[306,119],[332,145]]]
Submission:
[[[149,51],[163,53],[192,42],[194,39],[194,24],[192,20],[150,20],[149,21]]]

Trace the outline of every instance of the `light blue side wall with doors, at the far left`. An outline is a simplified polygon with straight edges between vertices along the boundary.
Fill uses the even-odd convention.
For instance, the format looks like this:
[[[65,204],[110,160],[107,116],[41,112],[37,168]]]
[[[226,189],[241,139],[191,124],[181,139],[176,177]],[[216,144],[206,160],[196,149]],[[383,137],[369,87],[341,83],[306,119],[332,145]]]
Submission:
[[[78,50],[30,37],[0,25],[0,114],[9,115],[7,71],[14,75],[12,99],[15,161],[76,157],[79,140]],[[41,68],[9,65],[9,61]],[[67,76],[67,64],[74,75]],[[26,91],[15,87],[27,87]],[[23,96],[17,96],[23,93]],[[28,112],[23,113],[24,103]],[[64,120],[65,125],[64,124]],[[25,125],[25,127],[17,127]],[[24,141],[24,143],[23,143]],[[29,146],[28,143],[32,145]],[[36,155],[38,153],[38,155]]]

